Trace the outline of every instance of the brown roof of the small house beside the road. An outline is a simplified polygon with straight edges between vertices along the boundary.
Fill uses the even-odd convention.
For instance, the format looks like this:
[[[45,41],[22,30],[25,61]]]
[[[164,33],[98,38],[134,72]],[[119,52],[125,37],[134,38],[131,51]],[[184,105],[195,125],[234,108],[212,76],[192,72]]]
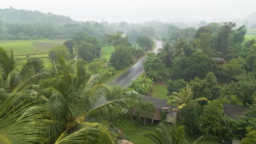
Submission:
[[[143,98],[143,102],[152,101],[155,107],[158,109],[163,109],[164,107],[176,108],[175,106],[172,106],[172,105],[166,105],[167,103],[166,99],[158,99],[154,97],[149,97],[147,95],[142,95],[142,98]]]

